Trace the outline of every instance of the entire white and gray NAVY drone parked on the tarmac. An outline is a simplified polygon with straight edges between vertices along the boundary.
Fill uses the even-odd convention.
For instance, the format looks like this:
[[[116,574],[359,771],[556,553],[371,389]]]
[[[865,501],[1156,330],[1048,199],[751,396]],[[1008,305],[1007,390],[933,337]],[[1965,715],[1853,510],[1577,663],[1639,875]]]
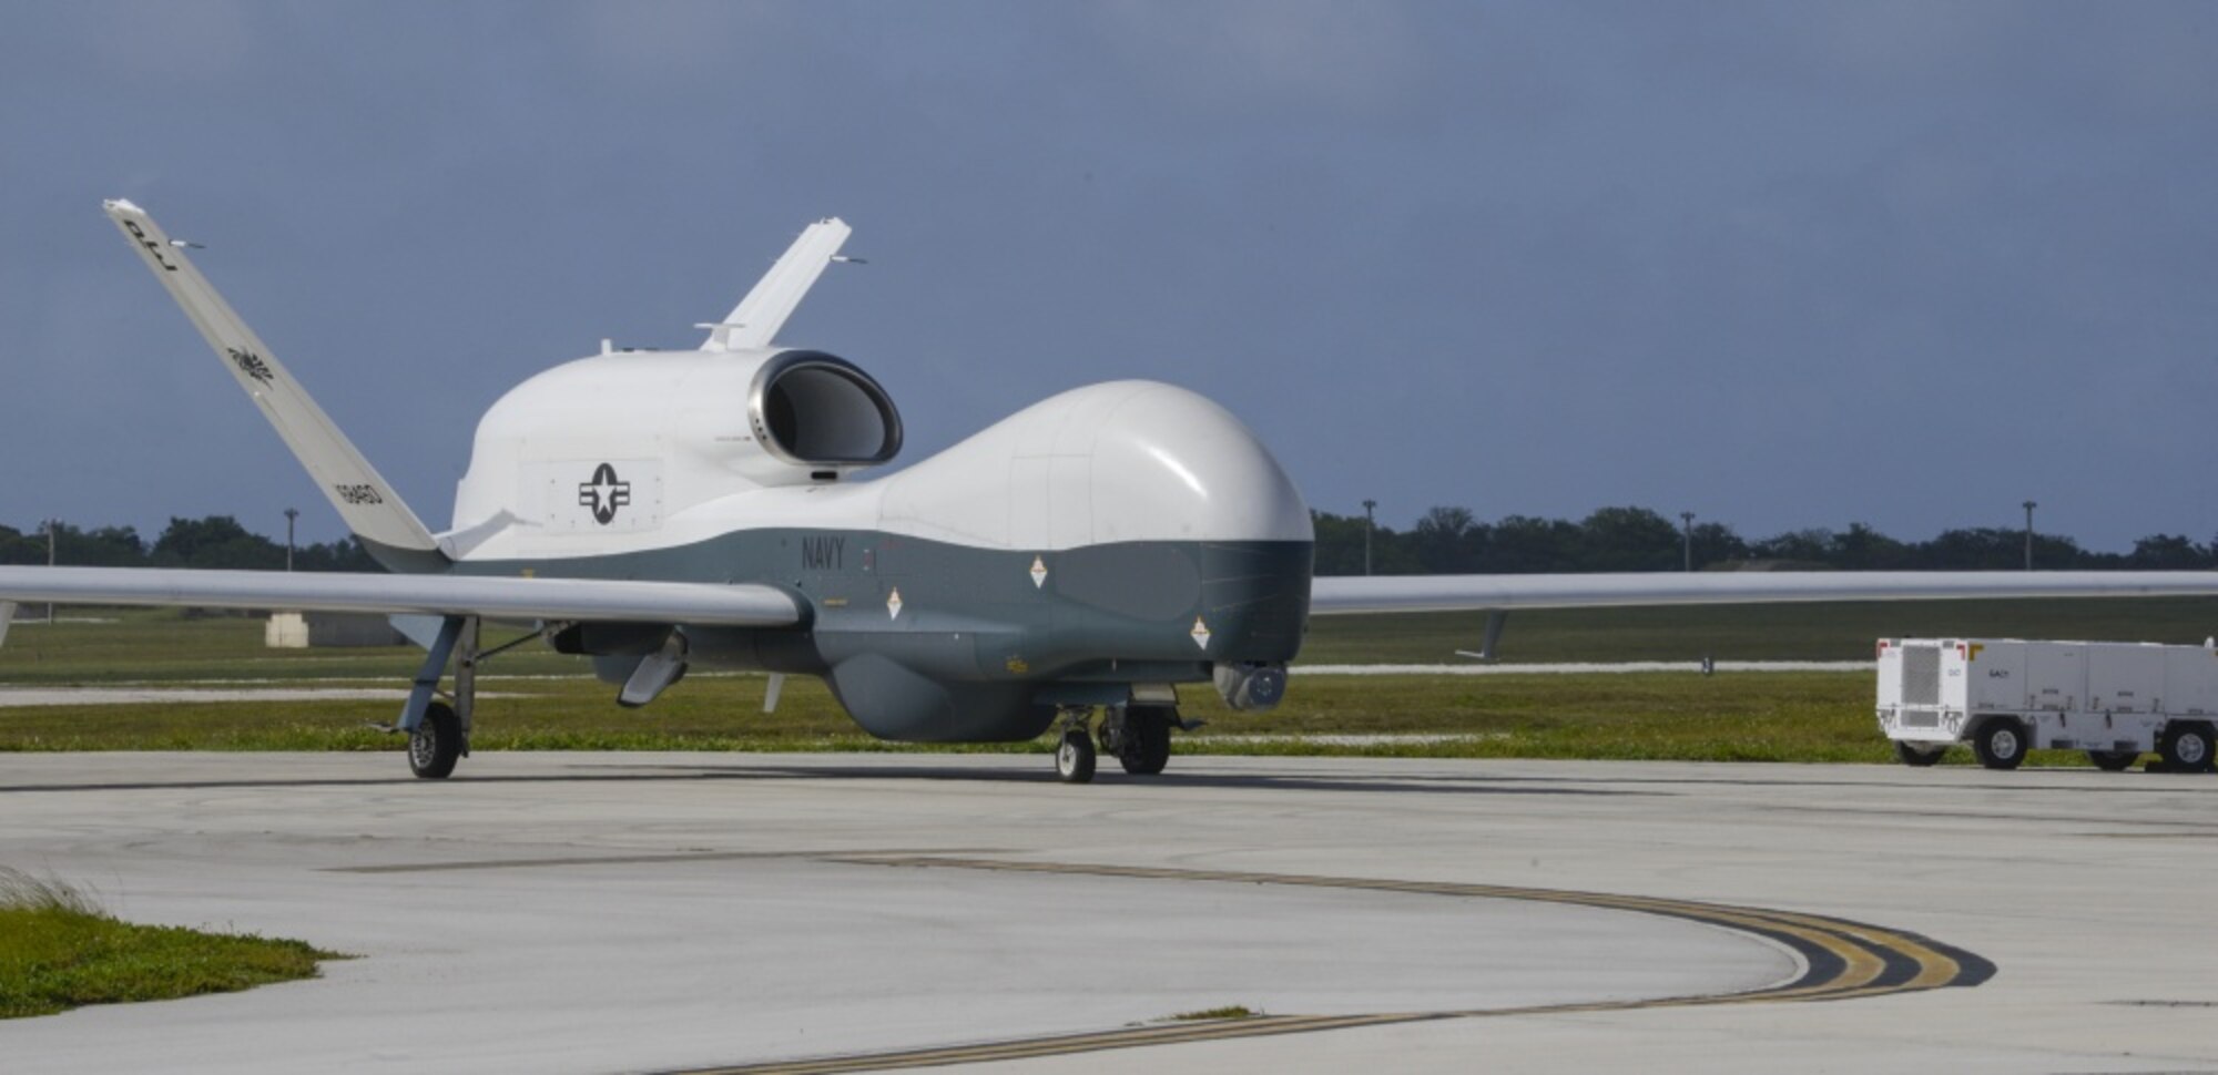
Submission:
[[[1271,709],[1313,614],[2218,594],[2211,572],[1528,574],[1313,579],[1311,514],[1262,441],[1209,399],[1107,381],[932,459],[861,366],[776,344],[849,228],[810,224],[694,350],[603,346],[479,421],[452,525],[428,530],[140,206],[106,215],[390,574],[0,567],[9,601],[430,616],[393,731],[417,776],[470,751],[479,623],[586,654],[619,705],[690,667],[818,676],[865,731],[1009,743],[1058,729],[1160,774],[1178,687]],[[1488,649],[1493,638],[1488,638]],[[517,643],[508,643],[517,645]],[[441,683],[448,687],[441,689]]]

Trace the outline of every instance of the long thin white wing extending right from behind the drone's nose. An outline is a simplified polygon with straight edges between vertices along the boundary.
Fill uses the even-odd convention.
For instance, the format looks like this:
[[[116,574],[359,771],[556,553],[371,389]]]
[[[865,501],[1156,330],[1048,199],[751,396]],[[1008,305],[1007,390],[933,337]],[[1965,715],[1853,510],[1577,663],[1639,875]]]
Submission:
[[[1652,572],[1322,576],[1309,610],[1508,612],[1542,607],[1943,601],[2010,596],[2218,596],[2218,572]]]

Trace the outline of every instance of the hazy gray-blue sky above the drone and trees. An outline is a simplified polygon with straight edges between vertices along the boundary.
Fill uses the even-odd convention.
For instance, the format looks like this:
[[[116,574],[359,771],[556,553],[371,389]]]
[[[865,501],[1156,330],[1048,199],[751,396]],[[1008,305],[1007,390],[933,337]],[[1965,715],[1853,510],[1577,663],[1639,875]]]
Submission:
[[[342,534],[131,197],[435,528],[841,215],[903,461],[1156,377],[1391,525],[2207,541],[2214,180],[2214,4],[4,4],[0,523]]]

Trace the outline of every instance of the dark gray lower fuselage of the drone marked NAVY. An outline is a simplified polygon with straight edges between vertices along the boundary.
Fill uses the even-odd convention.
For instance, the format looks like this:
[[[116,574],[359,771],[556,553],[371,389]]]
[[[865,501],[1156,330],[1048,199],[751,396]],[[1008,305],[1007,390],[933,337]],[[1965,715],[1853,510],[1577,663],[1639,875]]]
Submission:
[[[1309,541],[1127,541],[980,550],[874,530],[741,530],[712,541],[552,561],[464,561],[464,574],[763,583],[803,629],[579,625],[566,649],[603,676],[674,629],[694,665],[821,676],[889,740],[1025,740],[1065,705],[1133,685],[1202,683],[1218,665],[1284,665],[1309,616]]]

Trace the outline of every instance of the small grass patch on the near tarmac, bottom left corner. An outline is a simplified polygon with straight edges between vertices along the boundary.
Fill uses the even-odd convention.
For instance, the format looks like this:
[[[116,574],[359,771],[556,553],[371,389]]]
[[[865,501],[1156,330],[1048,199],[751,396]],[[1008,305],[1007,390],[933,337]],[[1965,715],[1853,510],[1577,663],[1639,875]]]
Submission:
[[[133,926],[75,889],[0,867],[0,1020],[315,977],[297,940]]]

